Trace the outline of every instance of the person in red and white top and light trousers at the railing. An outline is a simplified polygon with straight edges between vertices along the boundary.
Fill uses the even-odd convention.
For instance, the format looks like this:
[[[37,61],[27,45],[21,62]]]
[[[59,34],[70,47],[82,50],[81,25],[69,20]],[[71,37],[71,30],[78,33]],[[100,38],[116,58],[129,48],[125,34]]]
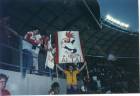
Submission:
[[[34,71],[37,72],[38,70],[38,53],[39,53],[39,47],[41,45],[41,35],[39,33],[39,28],[34,26],[32,27],[32,30],[31,31],[28,31],[25,36],[24,36],[24,39],[29,42],[30,44],[32,44],[32,50],[26,50],[28,51],[27,53],[32,53],[32,56],[28,56],[28,54],[26,56],[28,56],[29,58],[27,57],[24,57],[26,58],[27,60],[24,60],[23,62],[25,62],[25,65],[33,65],[33,69],[35,69]],[[27,46],[27,45],[26,45]],[[31,63],[31,60],[33,59],[32,63],[33,64],[29,64]]]

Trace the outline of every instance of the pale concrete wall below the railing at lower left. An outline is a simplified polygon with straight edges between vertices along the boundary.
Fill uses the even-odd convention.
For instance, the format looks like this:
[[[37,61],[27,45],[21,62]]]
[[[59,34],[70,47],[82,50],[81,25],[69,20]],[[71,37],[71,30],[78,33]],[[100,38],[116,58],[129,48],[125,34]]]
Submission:
[[[13,72],[0,69],[0,73],[6,74],[9,79],[6,88],[12,95],[47,95],[53,80],[47,76],[27,74],[26,78],[21,77],[20,72]],[[58,79],[60,94],[66,94],[66,80]]]

